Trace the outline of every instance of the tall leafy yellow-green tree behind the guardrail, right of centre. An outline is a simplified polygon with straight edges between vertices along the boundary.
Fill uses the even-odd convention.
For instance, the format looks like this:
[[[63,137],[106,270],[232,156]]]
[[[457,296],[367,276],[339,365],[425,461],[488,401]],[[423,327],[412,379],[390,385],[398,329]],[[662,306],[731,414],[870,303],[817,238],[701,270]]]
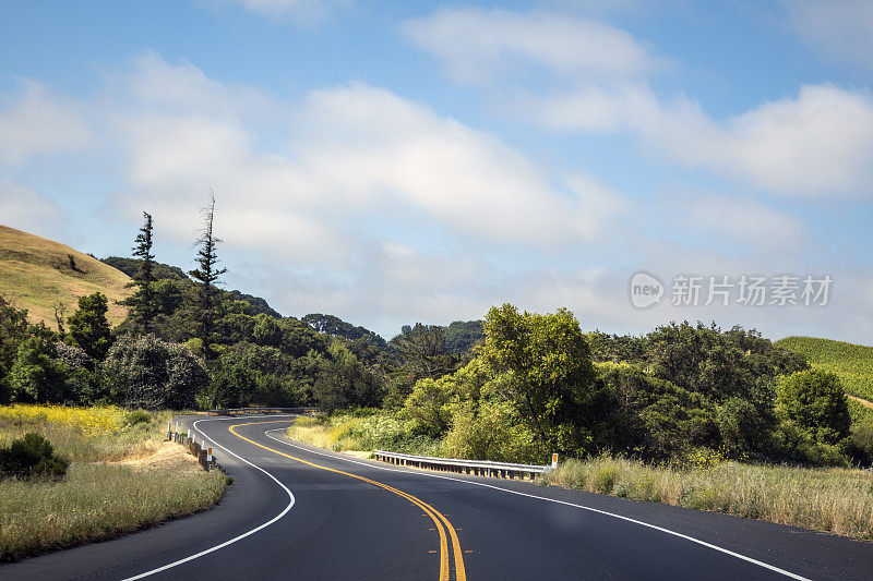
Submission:
[[[561,308],[540,315],[511,305],[486,316],[481,356],[497,395],[515,408],[542,446],[563,453],[591,449],[597,386],[588,343],[578,320]]]

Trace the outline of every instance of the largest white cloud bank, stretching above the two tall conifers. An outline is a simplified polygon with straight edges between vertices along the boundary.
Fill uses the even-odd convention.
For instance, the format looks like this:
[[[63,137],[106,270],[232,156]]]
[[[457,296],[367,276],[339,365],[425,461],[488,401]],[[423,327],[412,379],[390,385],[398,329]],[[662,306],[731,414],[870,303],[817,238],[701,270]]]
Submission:
[[[396,223],[402,216],[467,242],[565,246],[624,209],[595,180],[555,189],[493,135],[387,89],[354,83],[282,102],[154,55],[120,77],[101,101],[106,140],[125,160],[129,197],[172,208],[178,237],[210,186],[234,239],[309,257],[344,255],[373,230],[416,228]],[[259,110],[271,112],[268,129]]]

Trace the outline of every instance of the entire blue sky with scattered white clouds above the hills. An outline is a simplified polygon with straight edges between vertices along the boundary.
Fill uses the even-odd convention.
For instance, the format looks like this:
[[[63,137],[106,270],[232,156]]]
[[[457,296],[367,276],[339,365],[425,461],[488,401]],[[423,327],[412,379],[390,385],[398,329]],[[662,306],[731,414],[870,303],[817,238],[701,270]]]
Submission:
[[[0,223],[127,255],[147,210],[189,268],[213,189],[286,315],[873,344],[871,38],[868,0],[4,2]]]

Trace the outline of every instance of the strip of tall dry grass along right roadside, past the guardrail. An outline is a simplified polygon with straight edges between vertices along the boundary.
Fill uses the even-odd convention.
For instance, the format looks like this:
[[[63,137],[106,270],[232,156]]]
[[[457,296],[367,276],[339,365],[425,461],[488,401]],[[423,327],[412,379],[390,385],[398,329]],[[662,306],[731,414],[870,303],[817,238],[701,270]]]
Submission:
[[[873,538],[873,473],[862,470],[596,458],[569,460],[541,483]]]

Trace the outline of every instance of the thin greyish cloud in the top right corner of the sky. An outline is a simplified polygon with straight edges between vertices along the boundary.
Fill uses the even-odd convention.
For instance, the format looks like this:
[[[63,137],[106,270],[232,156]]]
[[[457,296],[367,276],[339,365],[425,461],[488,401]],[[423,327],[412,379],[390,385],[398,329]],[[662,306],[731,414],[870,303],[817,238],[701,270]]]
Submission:
[[[837,61],[873,66],[873,2],[782,0],[794,32]]]

